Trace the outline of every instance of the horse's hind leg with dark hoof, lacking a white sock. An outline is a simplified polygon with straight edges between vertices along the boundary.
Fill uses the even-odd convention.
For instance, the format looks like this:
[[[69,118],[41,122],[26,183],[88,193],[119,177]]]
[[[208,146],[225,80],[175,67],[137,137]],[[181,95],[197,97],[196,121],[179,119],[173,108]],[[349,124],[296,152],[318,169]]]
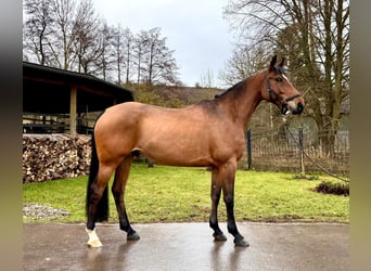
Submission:
[[[124,202],[125,188],[129,177],[132,159],[133,156],[131,154],[126,156],[121,164],[116,168],[115,179],[112,185],[112,194],[114,196],[118,214],[119,229],[127,232],[128,240],[139,240],[139,234],[130,225]]]

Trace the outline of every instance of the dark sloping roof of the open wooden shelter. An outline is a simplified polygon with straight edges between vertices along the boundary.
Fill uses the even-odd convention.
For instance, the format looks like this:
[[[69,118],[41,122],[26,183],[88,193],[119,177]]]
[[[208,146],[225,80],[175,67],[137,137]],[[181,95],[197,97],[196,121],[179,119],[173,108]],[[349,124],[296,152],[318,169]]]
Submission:
[[[68,114],[72,88],[77,90],[77,112],[133,101],[130,90],[94,76],[23,62],[24,113]]]

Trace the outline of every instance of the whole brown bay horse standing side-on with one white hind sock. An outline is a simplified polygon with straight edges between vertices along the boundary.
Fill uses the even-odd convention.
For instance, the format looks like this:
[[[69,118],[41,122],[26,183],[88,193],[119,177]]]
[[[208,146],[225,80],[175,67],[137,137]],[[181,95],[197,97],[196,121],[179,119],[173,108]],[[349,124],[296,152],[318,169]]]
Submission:
[[[107,219],[107,183],[115,172],[112,193],[119,228],[128,240],[139,240],[124,203],[129,169],[141,152],[159,164],[212,168],[209,225],[216,241],[227,237],[218,225],[221,191],[227,208],[227,228],[236,246],[248,246],[234,220],[234,175],[245,147],[244,128],[260,101],[278,105],[282,114],[300,114],[304,99],[283,72],[283,60],[274,55],[267,69],[236,83],[214,100],[184,108],[163,108],[127,102],[107,108],[97,120],[92,138],[92,162],[87,191],[88,245],[102,245],[95,221]],[[104,199],[103,199],[103,198]],[[101,201],[102,198],[102,201]]]

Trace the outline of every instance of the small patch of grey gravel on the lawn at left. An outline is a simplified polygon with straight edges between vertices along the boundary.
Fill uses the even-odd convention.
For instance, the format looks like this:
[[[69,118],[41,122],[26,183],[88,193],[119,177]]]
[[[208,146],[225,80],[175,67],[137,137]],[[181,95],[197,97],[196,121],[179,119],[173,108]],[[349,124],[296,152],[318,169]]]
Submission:
[[[23,205],[23,217],[31,220],[67,218],[69,212],[42,204]]]

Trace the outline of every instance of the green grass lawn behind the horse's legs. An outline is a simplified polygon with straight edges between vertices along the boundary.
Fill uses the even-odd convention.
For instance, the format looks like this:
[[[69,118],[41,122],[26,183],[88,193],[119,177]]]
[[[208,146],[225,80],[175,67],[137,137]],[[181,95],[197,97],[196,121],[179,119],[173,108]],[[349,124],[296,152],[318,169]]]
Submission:
[[[297,180],[294,173],[236,172],[234,214],[238,221],[270,222],[349,222],[349,197],[314,192],[321,181]],[[68,218],[25,222],[85,222],[87,177],[23,185],[24,204],[43,204],[65,209]],[[110,185],[111,186],[111,185]],[[210,172],[205,168],[180,168],[133,164],[126,192],[126,206],[132,223],[208,221],[210,211]],[[222,199],[219,221],[226,220]],[[110,222],[117,212],[110,193]]]

